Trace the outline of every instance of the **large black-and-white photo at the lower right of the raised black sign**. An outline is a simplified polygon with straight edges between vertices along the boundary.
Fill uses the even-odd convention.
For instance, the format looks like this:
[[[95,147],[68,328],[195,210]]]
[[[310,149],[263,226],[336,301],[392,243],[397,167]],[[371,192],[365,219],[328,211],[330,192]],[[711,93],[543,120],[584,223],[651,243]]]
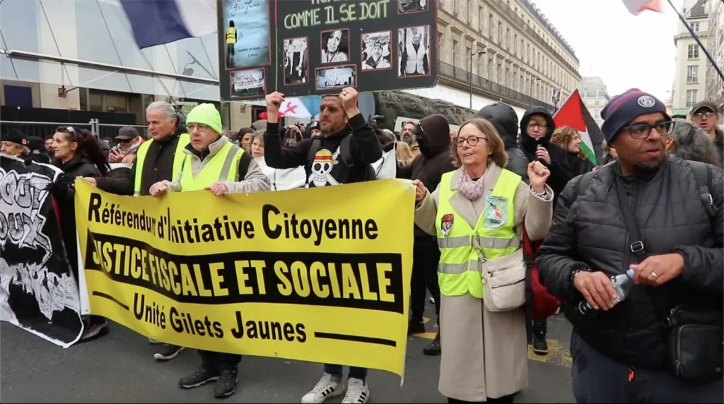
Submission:
[[[397,77],[419,77],[430,74],[430,26],[400,28],[399,70]]]

